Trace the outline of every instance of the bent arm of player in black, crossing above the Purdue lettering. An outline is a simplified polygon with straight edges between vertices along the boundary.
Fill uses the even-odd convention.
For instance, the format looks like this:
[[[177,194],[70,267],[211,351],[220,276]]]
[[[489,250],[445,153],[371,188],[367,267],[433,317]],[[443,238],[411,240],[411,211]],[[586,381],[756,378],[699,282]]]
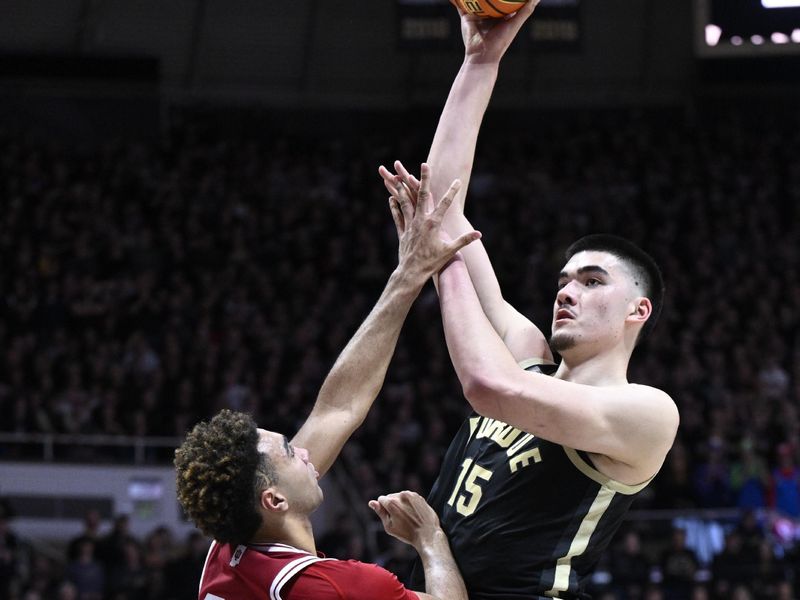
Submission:
[[[484,316],[458,258],[439,274],[439,297],[450,358],[475,411],[597,455],[595,466],[622,483],[658,471],[678,426],[669,396],[647,386],[583,385],[523,371]]]

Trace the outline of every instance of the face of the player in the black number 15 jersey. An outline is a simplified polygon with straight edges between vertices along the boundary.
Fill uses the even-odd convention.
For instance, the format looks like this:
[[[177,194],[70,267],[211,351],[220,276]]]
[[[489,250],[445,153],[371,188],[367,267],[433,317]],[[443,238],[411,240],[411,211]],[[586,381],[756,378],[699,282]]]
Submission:
[[[563,354],[586,344],[600,349],[614,345],[624,335],[635,297],[621,259],[607,252],[579,252],[559,275],[551,347]]]

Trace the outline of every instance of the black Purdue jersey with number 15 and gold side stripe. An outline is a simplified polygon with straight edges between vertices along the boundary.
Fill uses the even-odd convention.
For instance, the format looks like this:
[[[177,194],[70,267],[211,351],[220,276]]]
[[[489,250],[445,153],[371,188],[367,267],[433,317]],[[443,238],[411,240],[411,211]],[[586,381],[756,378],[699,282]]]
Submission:
[[[583,452],[473,413],[428,502],[470,600],[587,599],[587,578],[647,483],[609,479]],[[425,589],[419,562],[411,589]]]

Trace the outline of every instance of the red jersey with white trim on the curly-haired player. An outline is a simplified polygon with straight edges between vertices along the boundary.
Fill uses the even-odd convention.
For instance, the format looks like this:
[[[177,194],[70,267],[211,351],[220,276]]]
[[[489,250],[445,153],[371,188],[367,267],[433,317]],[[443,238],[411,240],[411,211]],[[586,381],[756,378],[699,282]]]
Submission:
[[[286,544],[212,542],[199,600],[419,600],[373,564],[314,556]]]

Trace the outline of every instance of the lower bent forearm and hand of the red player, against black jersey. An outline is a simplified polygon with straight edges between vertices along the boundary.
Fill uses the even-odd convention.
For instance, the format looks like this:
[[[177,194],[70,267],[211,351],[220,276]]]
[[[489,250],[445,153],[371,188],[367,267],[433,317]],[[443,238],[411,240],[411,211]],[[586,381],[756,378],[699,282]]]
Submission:
[[[419,494],[389,494],[371,500],[369,506],[380,517],[386,533],[410,544],[419,554],[427,592],[417,592],[421,600],[467,600],[464,580],[439,517]]]

